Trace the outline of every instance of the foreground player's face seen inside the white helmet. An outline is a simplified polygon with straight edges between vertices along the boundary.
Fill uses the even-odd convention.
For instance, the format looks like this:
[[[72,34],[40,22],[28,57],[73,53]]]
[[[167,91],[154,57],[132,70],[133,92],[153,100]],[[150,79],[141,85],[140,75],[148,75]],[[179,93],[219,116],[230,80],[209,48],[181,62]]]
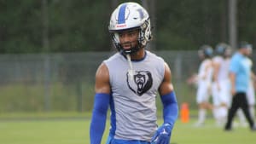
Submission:
[[[139,30],[119,32],[119,41],[123,49],[131,49],[137,46]]]

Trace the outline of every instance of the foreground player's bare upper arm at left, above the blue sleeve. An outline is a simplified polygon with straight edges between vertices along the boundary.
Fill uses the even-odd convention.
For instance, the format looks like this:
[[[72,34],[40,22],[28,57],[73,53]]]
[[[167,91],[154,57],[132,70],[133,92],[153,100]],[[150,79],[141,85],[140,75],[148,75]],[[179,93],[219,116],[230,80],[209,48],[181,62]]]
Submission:
[[[109,72],[106,64],[102,63],[96,71],[96,93],[110,93]]]

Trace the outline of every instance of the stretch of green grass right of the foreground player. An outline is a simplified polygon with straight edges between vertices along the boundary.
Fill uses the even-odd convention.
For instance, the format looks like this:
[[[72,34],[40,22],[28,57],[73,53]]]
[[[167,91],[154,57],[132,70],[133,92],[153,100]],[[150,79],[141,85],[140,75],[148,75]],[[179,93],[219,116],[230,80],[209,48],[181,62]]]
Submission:
[[[208,120],[209,121],[209,120]],[[181,124],[179,121],[172,133],[172,143],[176,144],[252,144],[255,132],[248,128],[234,128],[226,132],[222,127],[216,127],[212,120],[204,127],[195,128],[192,123]]]

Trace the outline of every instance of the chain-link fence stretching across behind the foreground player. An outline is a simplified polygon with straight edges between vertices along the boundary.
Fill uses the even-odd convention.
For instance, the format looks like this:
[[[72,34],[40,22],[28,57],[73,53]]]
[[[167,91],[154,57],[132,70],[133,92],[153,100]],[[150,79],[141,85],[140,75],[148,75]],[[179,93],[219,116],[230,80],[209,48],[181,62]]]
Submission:
[[[155,53],[171,67],[178,102],[195,107],[195,86],[186,80],[198,70],[197,51]],[[0,112],[90,110],[96,69],[110,55],[113,52],[1,55]]]

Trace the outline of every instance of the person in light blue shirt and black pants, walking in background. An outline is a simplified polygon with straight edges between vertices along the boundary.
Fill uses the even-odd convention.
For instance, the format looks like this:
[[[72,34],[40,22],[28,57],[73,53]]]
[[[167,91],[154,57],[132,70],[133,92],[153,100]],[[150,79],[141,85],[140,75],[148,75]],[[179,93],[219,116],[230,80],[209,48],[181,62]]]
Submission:
[[[250,60],[247,58],[247,55],[250,54],[250,49],[252,49],[250,43],[241,42],[236,54],[233,55],[230,60],[230,83],[231,95],[233,95],[233,97],[224,130],[232,130],[232,120],[237,109],[241,107],[250,125],[250,129],[256,131],[253,118],[249,113],[246,95],[251,77]]]

